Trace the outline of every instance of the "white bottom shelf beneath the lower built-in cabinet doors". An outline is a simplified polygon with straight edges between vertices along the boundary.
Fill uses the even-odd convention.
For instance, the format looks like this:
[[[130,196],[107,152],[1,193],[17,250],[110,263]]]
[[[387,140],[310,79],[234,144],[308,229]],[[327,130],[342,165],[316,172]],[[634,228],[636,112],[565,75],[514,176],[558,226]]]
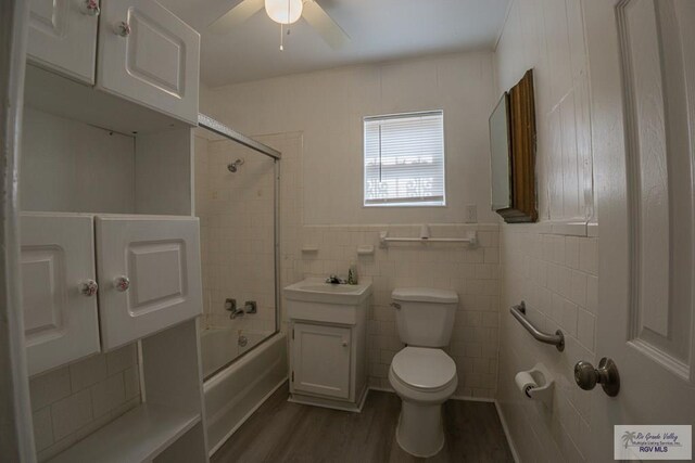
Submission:
[[[143,403],[58,454],[50,462],[151,461],[200,420],[200,413]]]

